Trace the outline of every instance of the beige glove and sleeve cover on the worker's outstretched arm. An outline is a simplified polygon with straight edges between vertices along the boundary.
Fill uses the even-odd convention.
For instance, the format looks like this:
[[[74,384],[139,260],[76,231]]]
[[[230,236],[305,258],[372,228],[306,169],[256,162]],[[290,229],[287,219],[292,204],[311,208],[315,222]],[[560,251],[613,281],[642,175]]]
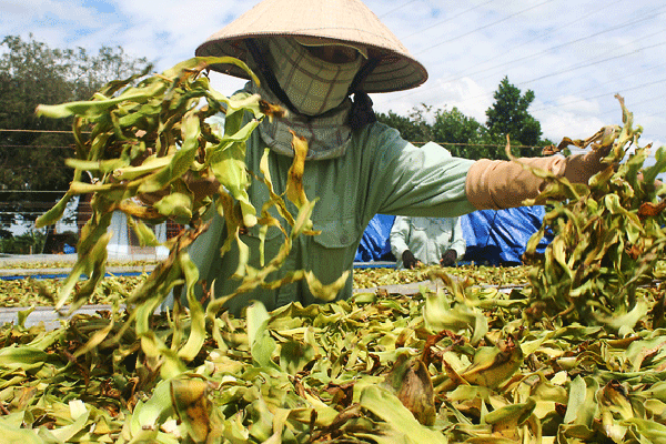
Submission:
[[[547,170],[574,183],[587,183],[607,164],[602,163],[608,150],[595,150],[586,154],[564,158],[521,158],[521,163]],[[523,206],[525,199],[534,199],[545,186],[545,181],[512,161],[476,161],[465,180],[467,199],[477,210],[501,210]]]

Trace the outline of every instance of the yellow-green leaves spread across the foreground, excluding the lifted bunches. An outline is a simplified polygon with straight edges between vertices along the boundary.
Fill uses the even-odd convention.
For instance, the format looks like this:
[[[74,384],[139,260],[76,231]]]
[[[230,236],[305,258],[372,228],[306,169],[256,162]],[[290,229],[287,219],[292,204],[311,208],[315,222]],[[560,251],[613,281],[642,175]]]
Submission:
[[[6,325],[0,427],[27,443],[664,440],[666,331],[656,316],[622,334],[532,325],[518,290],[448,284],[222,314],[186,365],[174,347],[195,329],[185,313],[150,319],[168,347],[159,361],[122,329],[122,313],[52,332]],[[653,291],[637,299],[655,304]],[[118,343],[98,343],[101,331]]]

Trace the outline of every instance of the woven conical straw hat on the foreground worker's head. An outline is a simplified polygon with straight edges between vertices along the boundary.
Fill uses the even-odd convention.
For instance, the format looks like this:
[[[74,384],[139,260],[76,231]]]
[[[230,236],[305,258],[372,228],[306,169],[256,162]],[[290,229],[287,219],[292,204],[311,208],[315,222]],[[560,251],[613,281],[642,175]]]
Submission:
[[[264,0],[212,34],[196,48],[196,56],[231,56],[251,65],[243,40],[273,36],[366,46],[371,57],[380,59],[380,63],[361,84],[360,89],[365,92],[407,90],[427,80],[425,68],[359,0]],[[212,68],[248,79],[248,74],[234,65]]]

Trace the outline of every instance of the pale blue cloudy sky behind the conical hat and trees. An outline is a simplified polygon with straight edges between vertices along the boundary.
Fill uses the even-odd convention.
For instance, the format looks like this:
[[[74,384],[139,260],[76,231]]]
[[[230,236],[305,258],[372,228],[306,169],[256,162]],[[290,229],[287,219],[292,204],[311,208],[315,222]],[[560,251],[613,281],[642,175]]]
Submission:
[[[210,34],[256,0],[0,0],[3,36],[52,48],[121,46],[158,70],[193,56]],[[666,3],[648,0],[366,0],[428,70],[411,91],[374,94],[401,114],[421,103],[457,107],[485,122],[506,75],[536,99],[544,137],[586,138],[620,123],[616,93],[644,128],[643,144],[666,144]],[[232,92],[241,82],[219,74]]]

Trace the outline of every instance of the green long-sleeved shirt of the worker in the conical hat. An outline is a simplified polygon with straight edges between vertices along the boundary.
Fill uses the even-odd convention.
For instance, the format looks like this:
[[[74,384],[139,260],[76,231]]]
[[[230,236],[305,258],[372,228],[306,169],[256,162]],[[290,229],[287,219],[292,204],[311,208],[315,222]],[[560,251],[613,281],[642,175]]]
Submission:
[[[248,141],[246,164],[256,174],[260,174],[264,147],[259,131],[254,131]],[[285,190],[291,163],[292,158],[269,154],[271,179],[278,193]],[[319,199],[312,220],[314,230],[321,230],[321,234],[300,236],[283,269],[271,279],[280,279],[289,271],[311,270],[324,284],[335,281],[344,271],[352,270],[363,231],[376,213],[448,218],[474,211],[465,195],[465,178],[473,163],[450,157],[435,143],[416,148],[382,123],[355,131],[344,155],[305,162],[303,184],[310,200]],[[258,182],[252,184],[249,194],[258,210],[269,200],[265,185]],[[291,202],[287,205],[296,213]],[[278,216],[275,212],[273,215]],[[240,283],[231,279],[238,265],[235,243],[232,251],[220,258],[224,238],[224,221],[215,214],[210,229],[190,248],[200,279],[205,280],[209,287],[215,282],[216,297],[233,292]],[[259,268],[259,228],[250,228],[242,240],[251,249],[250,264]],[[278,253],[283,241],[279,229],[269,228],[266,262]],[[351,295],[350,273],[337,299]],[[307,284],[300,281],[276,290],[258,289],[234,297],[228,306],[232,313],[239,313],[253,300],[263,302],[268,310],[294,301],[303,305],[321,302],[311,294]]]

